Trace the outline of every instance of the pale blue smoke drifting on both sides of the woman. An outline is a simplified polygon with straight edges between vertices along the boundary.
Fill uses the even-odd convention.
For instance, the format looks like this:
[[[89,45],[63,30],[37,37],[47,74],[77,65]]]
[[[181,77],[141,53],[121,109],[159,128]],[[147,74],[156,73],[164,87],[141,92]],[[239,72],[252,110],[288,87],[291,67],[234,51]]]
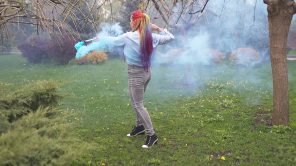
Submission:
[[[177,3],[177,7],[182,9],[181,3]],[[157,87],[158,82],[167,80],[172,85],[168,88],[176,87],[178,90],[180,86],[189,87],[196,94],[202,84],[221,74],[226,74],[229,81],[266,83],[263,81],[266,77],[249,70],[270,62],[266,7],[262,0],[210,0],[203,13],[182,15],[178,21],[181,28],[169,28],[175,40],[159,45],[152,58],[152,68],[157,73],[154,73],[154,81],[150,85]],[[178,18],[179,15],[176,15],[171,23]],[[152,23],[162,26],[161,23]],[[118,23],[103,24],[101,27],[102,31],[98,34],[101,39],[82,46],[76,57],[93,50],[116,49],[106,36],[120,35],[122,28]],[[233,67],[229,70],[229,63],[226,65],[223,60],[232,63],[237,70]],[[169,69],[162,71],[164,65]],[[268,87],[272,89],[272,81]]]

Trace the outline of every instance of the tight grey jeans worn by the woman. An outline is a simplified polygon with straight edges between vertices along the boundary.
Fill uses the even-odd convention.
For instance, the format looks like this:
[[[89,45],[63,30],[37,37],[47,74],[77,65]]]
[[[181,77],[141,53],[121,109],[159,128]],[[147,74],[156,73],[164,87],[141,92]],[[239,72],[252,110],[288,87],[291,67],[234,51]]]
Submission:
[[[153,135],[154,129],[148,111],[143,105],[144,92],[151,79],[151,70],[145,72],[143,67],[127,64],[128,93],[132,108],[135,110],[135,126],[144,125],[147,135]]]

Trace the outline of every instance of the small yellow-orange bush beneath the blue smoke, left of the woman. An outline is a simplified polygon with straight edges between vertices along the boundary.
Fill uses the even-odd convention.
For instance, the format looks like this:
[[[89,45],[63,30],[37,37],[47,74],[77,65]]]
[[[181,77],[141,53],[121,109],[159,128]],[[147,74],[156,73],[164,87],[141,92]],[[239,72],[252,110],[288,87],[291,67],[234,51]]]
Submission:
[[[108,55],[105,52],[93,51],[78,59],[75,59],[77,64],[100,64],[108,60]]]

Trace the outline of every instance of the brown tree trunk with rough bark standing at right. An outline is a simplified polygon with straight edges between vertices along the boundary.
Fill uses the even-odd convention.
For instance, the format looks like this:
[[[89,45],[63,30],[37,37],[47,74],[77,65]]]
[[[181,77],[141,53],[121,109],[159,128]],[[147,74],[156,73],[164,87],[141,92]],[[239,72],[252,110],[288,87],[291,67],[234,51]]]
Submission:
[[[294,13],[291,12],[293,11],[293,0],[264,0],[264,2],[268,5],[270,60],[273,79],[272,125],[289,125],[286,48],[287,35]]]

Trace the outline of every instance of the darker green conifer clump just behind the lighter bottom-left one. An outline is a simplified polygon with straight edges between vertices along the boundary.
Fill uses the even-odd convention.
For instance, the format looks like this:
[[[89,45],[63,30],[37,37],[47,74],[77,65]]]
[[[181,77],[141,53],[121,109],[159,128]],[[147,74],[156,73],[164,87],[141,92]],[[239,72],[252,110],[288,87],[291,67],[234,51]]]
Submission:
[[[0,97],[0,109],[10,122],[40,106],[56,106],[63,95],[58,88],[63,82],[38,80],[16,89],[6,97]]]

